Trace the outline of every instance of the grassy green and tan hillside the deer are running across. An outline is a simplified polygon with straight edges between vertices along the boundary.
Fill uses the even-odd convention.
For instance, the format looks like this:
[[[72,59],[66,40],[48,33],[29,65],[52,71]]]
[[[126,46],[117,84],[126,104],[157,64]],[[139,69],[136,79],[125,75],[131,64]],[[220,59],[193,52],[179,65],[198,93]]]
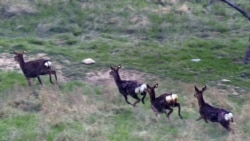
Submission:
[[[249,140],[250,66],[242,61],[249,21],[217,1],[165,4],[1,0],[0,140]],[[249,0],[236,4],[250,13]],[[45,85],[34,80],[28,87],[12,50],[25,50],[26,60],[50,58],[59,85],[44,76]],[[83,65],[89,57],[97,63]],[[124,79],[158,82],[158,95],[178,93],[184,119],[175,109],[169,121],[161,115],[157,122],[148,97],[145,105],[127,105],[108,75],[118,64]],[[194,85],[207,85],[205,99],[234,113],[235,134],[195,121]]]

